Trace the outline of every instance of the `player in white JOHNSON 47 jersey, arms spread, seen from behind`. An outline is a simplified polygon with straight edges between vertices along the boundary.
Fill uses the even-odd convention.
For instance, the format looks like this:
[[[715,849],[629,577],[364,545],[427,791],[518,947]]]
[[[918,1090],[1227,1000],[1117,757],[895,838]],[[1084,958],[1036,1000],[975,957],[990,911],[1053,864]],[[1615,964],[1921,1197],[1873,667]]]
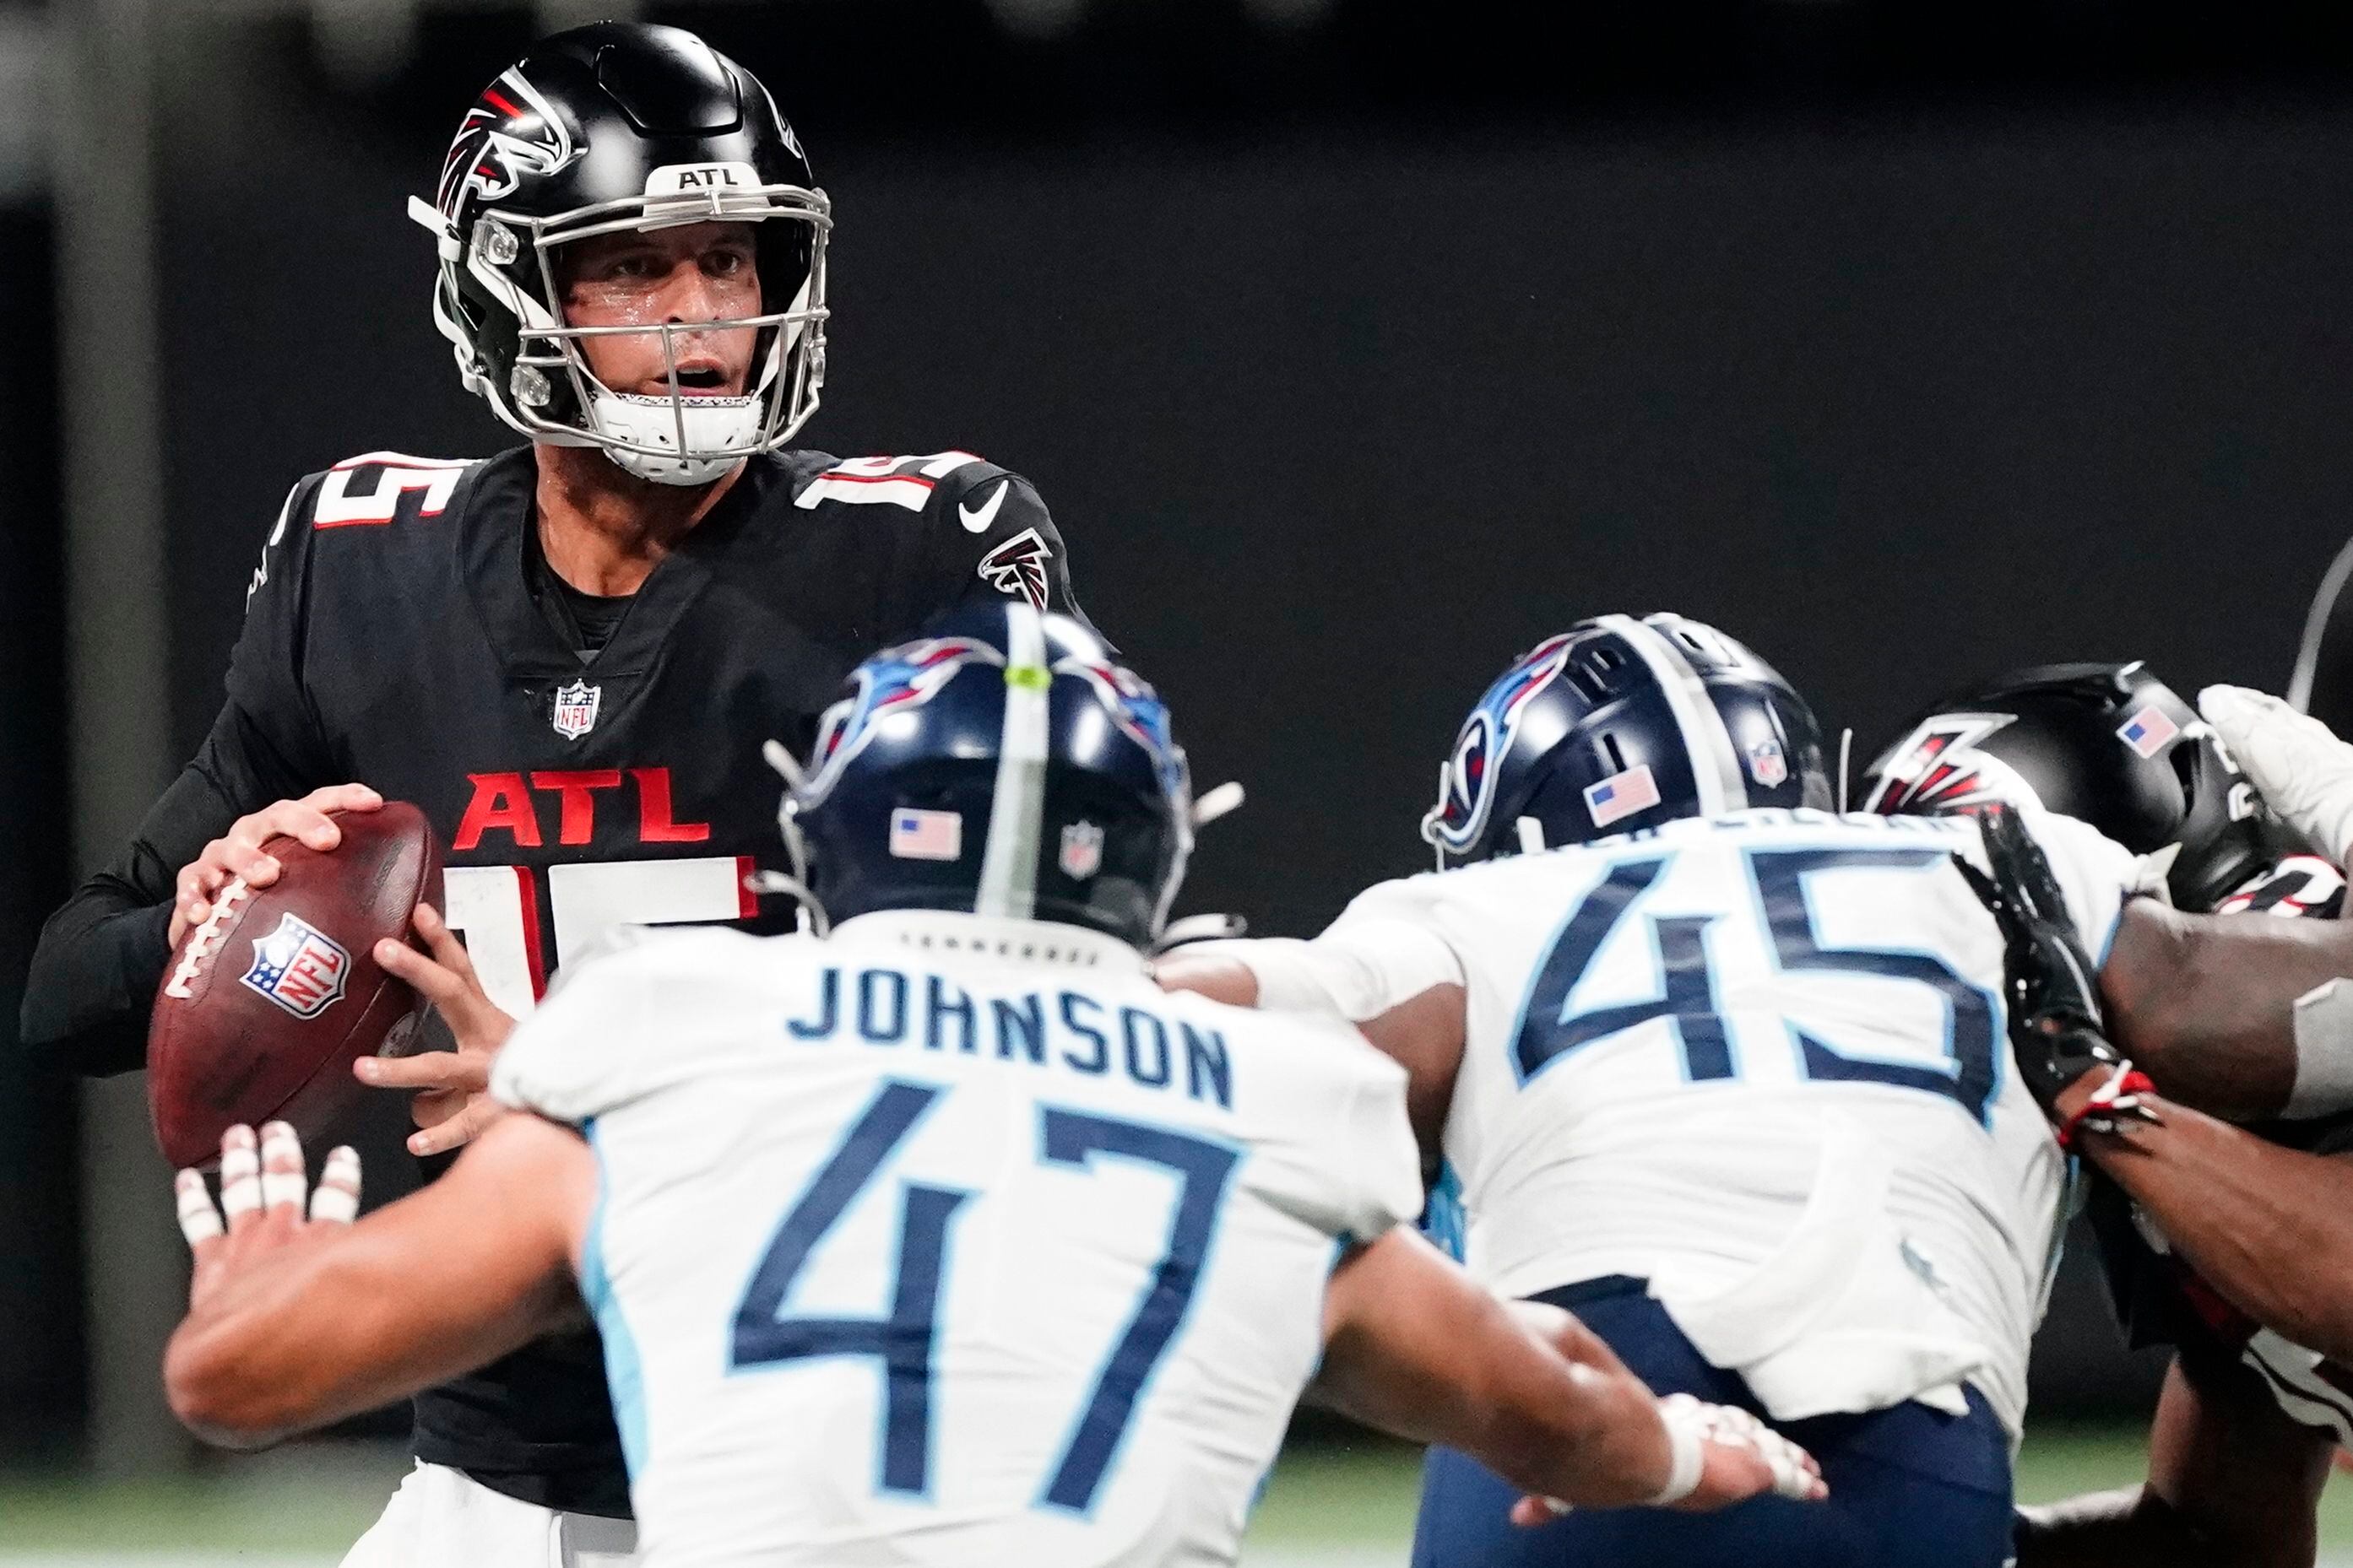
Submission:
[[[332,1420],[586,1300],[647,1563],[1233,1563],[1311,1382],[1482,1455],[1522,1516],[1821,1493],[1414,1237],[1405,1074],[1351,1030],[1151,983],[1191,785],[1075,621],[967,609],[875,656],[791,771],[831,936],[581,966],[499,1056],[529,1114],[358,1227],[344,1154],[299,1222],[282,1128],[233,1135],[228,1234],[181,1175],[198,1429]]]

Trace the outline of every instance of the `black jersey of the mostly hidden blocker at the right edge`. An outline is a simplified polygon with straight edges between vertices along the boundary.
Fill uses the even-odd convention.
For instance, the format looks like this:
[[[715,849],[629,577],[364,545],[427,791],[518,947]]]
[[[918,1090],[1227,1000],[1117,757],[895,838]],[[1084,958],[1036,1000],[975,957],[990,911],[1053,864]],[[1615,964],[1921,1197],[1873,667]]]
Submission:
[[[2217,914],[2337,919],[2344,900],[2346,882],[2334,865],[2292,856],[2217,905]],[[2266,1121],[2247,1131],[2311,1154],[2353,1152],[2353,1114]],[[2226,1302],[2115,1182],[2094,1175],[2085,1206],[2115,1316],[2134,1347],[2177,1345],[2191,1359],[2247,1366],[2289,1420],[2353,1443],[2353,1368],[2294,1345]]]

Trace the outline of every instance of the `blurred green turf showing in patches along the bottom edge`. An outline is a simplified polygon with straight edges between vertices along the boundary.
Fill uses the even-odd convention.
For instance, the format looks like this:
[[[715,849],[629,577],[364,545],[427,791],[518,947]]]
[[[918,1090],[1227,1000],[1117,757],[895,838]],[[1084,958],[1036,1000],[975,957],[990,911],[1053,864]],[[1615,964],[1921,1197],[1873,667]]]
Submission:
[[[376,1516],[405,1469],[386,1448],[308,1448],[216,1460],[179,1481],[0,1476],[7,1568],[332,1566]],[[2038,1427],[2019,1460],[2019,1497],[2047,1502],[2141,1476],[2141,1439],[2099,1427]],[[1400,1446],[1292,1453],[1249,1528],[1249,1568],[1393,1568],[1414,1523],[1417,1455]],[[2329,1561],[2353,1568],[2353,1479],[2322,1514]]]

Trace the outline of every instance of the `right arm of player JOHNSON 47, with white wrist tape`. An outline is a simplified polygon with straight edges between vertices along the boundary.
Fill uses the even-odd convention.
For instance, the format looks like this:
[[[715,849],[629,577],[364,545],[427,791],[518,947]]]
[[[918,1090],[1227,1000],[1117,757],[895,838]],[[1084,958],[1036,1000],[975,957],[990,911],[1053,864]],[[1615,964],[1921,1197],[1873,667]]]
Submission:
[[[1821,1495],[1795,1446],[1739,1413],[1661,1406],[1572,1314],[1506,1307],[1405,1227],[1334,1269],[1311,1399],[1581,1507]]]

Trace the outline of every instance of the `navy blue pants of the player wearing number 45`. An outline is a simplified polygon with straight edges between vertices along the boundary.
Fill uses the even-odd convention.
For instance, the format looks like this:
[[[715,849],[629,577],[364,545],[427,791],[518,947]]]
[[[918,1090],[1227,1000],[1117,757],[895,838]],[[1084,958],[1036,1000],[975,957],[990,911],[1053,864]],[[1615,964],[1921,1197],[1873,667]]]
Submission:
[[[1659,1394],[1765,1410],[1708,1366],[1638,1279],[1588,1279],[1537,1300],[1567,1307]],[[1779,1425],[1831,1483],[1828,1502],[1753,1497],[1718,1514],[1577,1512],[1513,1528],[1518,1488],[1478,1460],[1431,1448],[1414,1568],[2002,1568],[2009,1561],[2009,1439],[1972,1389],[1967,1415],[1920,1403]]]

